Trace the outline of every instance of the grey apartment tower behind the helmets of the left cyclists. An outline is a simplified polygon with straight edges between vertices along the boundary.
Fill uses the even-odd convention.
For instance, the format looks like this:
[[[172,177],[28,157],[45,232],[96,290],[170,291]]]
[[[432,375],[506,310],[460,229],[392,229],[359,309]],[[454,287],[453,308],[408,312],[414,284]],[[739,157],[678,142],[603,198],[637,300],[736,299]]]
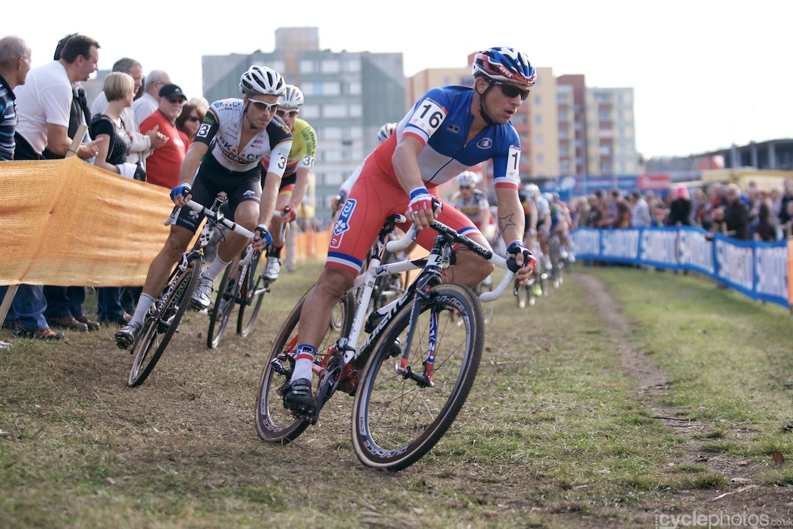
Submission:
[[[309,201],[318,220],[329,220],[332,197],[377,147],[381,126],[404,116],[402,54],[321,50],[319,29],[282,28],[273,52],[204,56],[205,97],[239,94],[239,73],[251,64],[274,68],[303,91],[301,118],[316,129],[318,142]]]

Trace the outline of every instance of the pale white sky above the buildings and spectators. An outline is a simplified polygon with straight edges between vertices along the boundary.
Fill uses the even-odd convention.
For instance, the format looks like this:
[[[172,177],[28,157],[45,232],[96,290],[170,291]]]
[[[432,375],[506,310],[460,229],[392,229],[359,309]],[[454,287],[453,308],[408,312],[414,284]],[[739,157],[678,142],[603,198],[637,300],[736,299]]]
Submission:
[[[319,28],[320,48],[334,52],[401,52],[407,76],[510,46],[556,76],[633,87],[636,147],[648,158],[793,137],[793,2],[467,3],[136,0],[121,16],[101,14],[121,4],[45,0],[18,5],[10,34],[27,40],[36,67],[63,35],[84,33],[102,46],[102,69],[129,56],[144,72],[168,71],[188,97],[201,92],[201,56],[271,52],[282,27]]]

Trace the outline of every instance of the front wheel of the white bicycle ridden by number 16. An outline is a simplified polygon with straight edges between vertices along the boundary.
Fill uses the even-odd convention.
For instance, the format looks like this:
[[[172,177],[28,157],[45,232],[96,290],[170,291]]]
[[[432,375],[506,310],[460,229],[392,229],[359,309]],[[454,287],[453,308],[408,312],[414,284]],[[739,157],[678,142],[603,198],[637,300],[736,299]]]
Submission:
[[[470,289],[454,283],[432,287],[413,326],[411,309],[406,305],[385,328],[358,381],[352,442],[361,462],[372,468],[402,470],[434,447],[465,404],[479,369],[485,323]],[[409,355],[400,366],[399,350],[411,327]],[[433,349],[430,385],[427,351]]]

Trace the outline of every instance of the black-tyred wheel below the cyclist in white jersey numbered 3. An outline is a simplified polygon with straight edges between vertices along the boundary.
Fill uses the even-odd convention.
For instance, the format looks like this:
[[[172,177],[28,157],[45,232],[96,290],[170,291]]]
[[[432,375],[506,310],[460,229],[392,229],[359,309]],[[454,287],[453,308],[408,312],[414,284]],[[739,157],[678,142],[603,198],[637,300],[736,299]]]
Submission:
[[[157,365],[159,357],[168,347],[170,339],[177,332],[179,322],[190,305],[190,296],[201,278],[201,258],[189,259],[186,270],[176,274],[166,287],[162,304],[155,312],[149,312],[140,329],[136,347],[132,350],[135,359],[129,371],[127,384],[135,387],[144,383],[151,370]],[[160,299],[163,299],[162,297]],[[157,306],[157,305],[155,305]]]

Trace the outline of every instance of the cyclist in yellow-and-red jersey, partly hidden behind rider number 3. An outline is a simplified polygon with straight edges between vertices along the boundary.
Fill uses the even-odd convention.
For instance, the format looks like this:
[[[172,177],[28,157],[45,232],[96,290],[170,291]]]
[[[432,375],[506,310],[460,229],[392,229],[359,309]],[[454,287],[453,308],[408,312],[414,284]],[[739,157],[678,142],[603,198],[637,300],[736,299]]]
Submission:
[[[288,230],[289,223],[297,218],[297,208],[308,190],[308,181],[316,159],[316,132],[308,122],[297,117],[303,101],[303,93],[297,86],[286,85],[286,91],[278,102],[278,117],[292,131],[292,150],[289,151],[289,161],[281,178],[275,205],[281,211],[281,217],[273,217],[270,224],[273,243],[267,250],[267,266],[264,269],[264,277],[270,282],[274,282],[281,272],[281,251],[286,242],[286,232],[282,237],[282,223],[287,223]],[[268,162],[267,159],[262,160],[265,166]]]

